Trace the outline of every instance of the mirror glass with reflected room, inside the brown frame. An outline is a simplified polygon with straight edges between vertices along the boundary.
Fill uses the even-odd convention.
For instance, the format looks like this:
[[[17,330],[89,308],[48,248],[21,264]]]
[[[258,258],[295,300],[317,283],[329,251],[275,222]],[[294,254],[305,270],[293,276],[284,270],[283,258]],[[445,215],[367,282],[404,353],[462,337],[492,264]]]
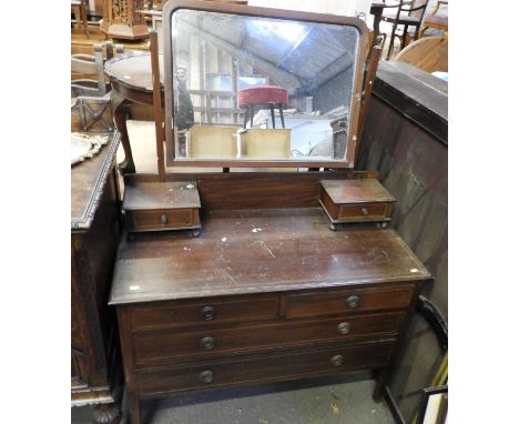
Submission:
[[[171,23],[176,158],[345,159],[356,28],[189,9]]]

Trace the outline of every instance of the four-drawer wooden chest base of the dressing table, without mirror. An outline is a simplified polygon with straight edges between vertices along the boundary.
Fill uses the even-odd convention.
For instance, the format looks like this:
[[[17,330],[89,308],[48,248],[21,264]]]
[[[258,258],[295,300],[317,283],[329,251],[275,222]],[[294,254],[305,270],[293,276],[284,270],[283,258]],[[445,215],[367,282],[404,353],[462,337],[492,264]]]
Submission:
[[[140,400],[356,370],[381,394],[430,274],[393,230],[330,232],[319,209],[211,213],[123,238],[116,306],[131,422]]]

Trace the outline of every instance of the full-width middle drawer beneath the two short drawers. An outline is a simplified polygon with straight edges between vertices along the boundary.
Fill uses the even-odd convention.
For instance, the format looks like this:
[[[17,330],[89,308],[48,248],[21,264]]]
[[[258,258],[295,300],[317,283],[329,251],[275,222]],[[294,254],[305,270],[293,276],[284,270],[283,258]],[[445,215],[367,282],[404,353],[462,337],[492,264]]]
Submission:
[[[395,335],[403,316],[404,313],[395,312],[235,329],[207,327],[185,333],[179,331],[139,333],[133,337],[134,357],[138,366],[172,365],[220,354]]]

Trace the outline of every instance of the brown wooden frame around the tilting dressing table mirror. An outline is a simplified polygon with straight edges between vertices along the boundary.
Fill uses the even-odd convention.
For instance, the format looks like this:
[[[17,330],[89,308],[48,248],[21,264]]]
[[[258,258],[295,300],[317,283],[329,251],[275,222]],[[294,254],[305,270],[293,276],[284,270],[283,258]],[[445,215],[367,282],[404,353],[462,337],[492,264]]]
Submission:
[[[189,159],[175,158],[175,143],[173,133],[173,70],[174,54],[172,51],[172,16],[176,10],[190,9],[216,13],[230,13],[238,16],[274,18],[292,21],[304,21],[315,23],[330,23],[355,28],[358,33],[358,57],[355,70],[355,80],[352,95],[352,108],[349,117],[349,132],[346,140],[346,157],[344,159],[329,159],[316,161],[299,160],[244,160],[244,159]],[[164,27],[164,104],[165,104],[165,140],[166,140],[166,165],[167,166],[202,166],[202,168],[347,168],[353,169],[355,163],[355,151],[357,148],[357,130],[360,112],[364,64],[368,51],[368,28],[358,18],[343,17],[336,14],[309,13],[284,9],[257,8],[237,3],[199,1],[199,0],[170,0],[163,10]]]

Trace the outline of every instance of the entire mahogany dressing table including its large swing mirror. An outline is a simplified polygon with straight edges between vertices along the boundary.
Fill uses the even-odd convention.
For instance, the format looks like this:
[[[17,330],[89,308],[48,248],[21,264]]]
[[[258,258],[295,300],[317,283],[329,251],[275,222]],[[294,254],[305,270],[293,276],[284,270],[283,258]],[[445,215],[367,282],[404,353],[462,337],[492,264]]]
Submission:
[[[334,231],[319,203],[324,181],[336,186],[378,176],[354,171],[365,23],[204,1],[170,1],[163,16],[159,172],[126,173],[124,195],[150,184],[152,202],[155,184],[167,193],[190,182],[202,230],[197,236],[155,231],[164,230],[156,214],[153,231],[126,225],[119,245],[110,304],[118,313],[131,423],[141,422],[141,398],[357,370],[376,372],[379,400],[415,300],[431,275],[394,230],[347,222]],[[194,122],[185,138],[175,113],[185,101],[174,78],[179,68],[187,69],[194,111],[184,121]],[[286,122],[292,109],[299,124],[309,128],[309,117],[318,115],[328,128],[319,133],[287,124],[288,152],[240,154],[250,142],[243,130],[265,145],[277,137],[260,112],[243,129],[244,111],[234,105],[246,83],[284,87]],[[154,104],[161,109],[160,95]],[[194,144],[207,140],[223,148],[191,155]],[[176,172],[164,172],[161,161]],[[200,172],[179,172],[183,166]],[[347,204],[347,194],[340,201]]]

